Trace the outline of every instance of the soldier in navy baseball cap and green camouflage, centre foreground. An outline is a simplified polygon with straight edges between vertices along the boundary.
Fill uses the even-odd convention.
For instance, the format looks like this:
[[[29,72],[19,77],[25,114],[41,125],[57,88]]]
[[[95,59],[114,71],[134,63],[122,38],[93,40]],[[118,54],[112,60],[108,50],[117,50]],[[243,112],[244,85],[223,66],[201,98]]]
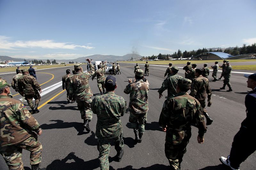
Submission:
[[[126,103],[124,98],[115,94],[116,78],[108,76],[105,81],[107,92],[101,96],[96,96],[92,100],[92,111],[97,115],[97,125],[95,135],[98,138],[98,151],[100,169],[108,170],[108,154],[111,141],[115,142],[116,159],[121,161],[124,154],[123,127],[120,117],[124,116]],[[107,109],[106,109],[107,108]]]

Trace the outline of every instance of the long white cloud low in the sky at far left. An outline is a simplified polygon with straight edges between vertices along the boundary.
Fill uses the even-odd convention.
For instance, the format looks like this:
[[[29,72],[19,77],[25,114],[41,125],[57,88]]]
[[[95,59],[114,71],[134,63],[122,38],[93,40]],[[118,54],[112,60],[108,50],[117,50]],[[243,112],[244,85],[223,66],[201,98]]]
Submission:
[[[68,42],[54,42],[53,40],[36,40],[36,41],[15,41],[11,42],[9,37],[0,36],[0,49],[15,48],[52,48],[52,49],[75,49],[76,47],[92,49],[92,46],[81,46],[70,44]]]

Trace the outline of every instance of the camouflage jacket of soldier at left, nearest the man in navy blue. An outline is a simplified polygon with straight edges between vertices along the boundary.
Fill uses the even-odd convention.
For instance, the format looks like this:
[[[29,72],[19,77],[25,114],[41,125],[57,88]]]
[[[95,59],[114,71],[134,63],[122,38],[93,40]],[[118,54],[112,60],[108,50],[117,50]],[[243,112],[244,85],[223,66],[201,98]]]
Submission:
[[[18,78],[18,87],[20,92],[24,92],[24,95],[35,94],[36,90],[41,90],[36,78],[28,74],[22,74]]]

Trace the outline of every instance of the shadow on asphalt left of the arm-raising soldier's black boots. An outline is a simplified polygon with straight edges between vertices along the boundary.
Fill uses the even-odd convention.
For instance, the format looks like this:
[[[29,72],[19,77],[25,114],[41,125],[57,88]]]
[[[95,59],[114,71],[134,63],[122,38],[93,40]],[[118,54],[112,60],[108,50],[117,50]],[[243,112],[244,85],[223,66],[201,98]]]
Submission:
[[[77,135],[88,134],[89,132],[84,131],[83,123],[79,122],[64,122],[63,120],[49,120],[51,122],[56,122],[54,124],[41,124],[42,129],[65,129],[74,127],[78,132]]]

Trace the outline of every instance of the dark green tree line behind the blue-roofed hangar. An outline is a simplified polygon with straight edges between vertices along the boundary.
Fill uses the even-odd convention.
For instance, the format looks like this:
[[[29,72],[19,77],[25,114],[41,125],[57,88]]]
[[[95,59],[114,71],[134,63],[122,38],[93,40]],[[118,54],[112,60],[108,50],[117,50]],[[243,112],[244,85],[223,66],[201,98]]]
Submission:
[[[156,57],[158,57],[159,60],[169,60],[170,58],[173,59],[177,59],[177,58],[189,58],[192,56],[197,56],[201,53],[205,53],[205,52],[224,52],[224,53],[228,53],[231,54],[233,56],[236,55],[241,55],[241,54],[248,54],[248,53],[256,53],[256,43],[246,46],[246,44],[243,44],[242,47],[233,47],[233,48],[226,48],[225,50],[222,50],[221,48],[219,49],[198,49],[198,50],[192,50],[192,51],[187,51],[185,50],[183,53],[180,51],[180,49],[178,50],[178,52],[174,52],[173,54],[161,54],[159,53],[157,56],[147,56],[149,60],[154,60]],[[143,56],[144,57],[144,56]],[[131,59],[132,60],[132,59]]]

